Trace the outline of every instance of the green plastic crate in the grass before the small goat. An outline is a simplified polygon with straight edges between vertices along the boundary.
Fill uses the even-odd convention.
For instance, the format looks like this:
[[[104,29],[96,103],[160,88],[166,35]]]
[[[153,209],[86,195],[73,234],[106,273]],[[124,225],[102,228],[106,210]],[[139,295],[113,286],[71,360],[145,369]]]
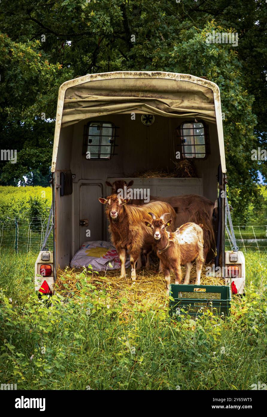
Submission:
[[[169,313],[179,320],[186,313],[196,318],[210,310],[215,316],[228,316],[232,299],[230,286],[226,285],[180,285],[171,284]],[[181,311],[181,310],[184,311]]]

